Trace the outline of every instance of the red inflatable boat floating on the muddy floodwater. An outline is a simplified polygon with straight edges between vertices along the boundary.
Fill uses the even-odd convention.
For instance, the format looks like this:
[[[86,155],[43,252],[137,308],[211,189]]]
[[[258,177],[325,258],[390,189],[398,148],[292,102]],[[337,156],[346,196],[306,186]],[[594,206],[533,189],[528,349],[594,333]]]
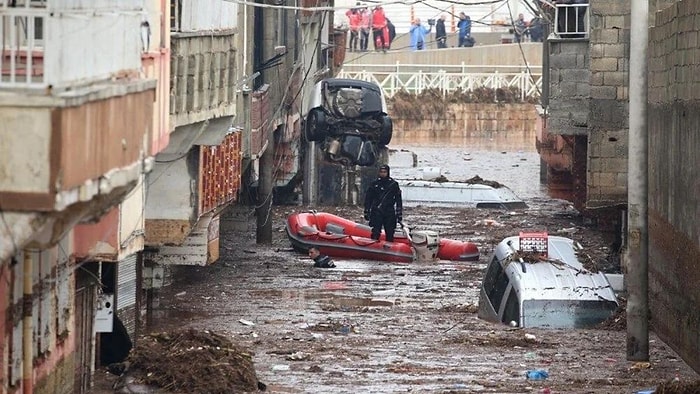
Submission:
[[[415,254],[411,240],[397,229],[394,242],[386,240],[382,231],[379,240],[371,238],[371,228],[325,212],[301,212],[287,218],[287,236],[292,246],[302,252],[310,247],[332,257],[371,259],[408,263]],[[437,257],[442,260],[477,261],[479,250],[471,242],[441,239]]]

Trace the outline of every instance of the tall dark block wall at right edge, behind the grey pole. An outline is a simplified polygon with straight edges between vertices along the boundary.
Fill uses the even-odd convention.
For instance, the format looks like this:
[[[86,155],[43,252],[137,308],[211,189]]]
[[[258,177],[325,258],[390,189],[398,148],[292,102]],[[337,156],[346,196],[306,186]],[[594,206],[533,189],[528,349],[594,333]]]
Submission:
[[[700,372],[700,1],[649,32],[649,300],[656,332]]]

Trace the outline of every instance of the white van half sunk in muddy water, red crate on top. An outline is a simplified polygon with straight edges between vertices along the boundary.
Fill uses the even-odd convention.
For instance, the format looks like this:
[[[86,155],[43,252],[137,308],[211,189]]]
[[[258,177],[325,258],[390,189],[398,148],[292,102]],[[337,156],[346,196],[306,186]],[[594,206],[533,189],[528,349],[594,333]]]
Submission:
[[[515,327],[584,328],[618,307],[602,272],[591,272],[573,240],[521,233],[501,241],[481,284],[479,317]]]

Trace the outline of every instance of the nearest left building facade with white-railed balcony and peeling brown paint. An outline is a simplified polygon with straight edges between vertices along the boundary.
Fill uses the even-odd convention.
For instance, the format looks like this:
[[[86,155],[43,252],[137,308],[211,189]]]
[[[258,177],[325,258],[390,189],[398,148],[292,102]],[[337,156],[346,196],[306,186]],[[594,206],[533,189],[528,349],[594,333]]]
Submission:
[[[143,0],[0,2],[3,392],[90,386],[99,271],[87,260],[140,248],[118,206],[139,195],[160,137],[157,82],[141,72],[147,13]],[[98,221],[96,237],[76,228]]]

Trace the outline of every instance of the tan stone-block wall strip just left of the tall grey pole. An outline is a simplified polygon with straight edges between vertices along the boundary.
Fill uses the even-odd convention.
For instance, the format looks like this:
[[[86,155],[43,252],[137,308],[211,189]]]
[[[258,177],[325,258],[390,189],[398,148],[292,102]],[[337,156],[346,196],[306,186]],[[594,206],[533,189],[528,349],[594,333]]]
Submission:
[[[627,201],[630,2],[591,2],[589,208]]]

